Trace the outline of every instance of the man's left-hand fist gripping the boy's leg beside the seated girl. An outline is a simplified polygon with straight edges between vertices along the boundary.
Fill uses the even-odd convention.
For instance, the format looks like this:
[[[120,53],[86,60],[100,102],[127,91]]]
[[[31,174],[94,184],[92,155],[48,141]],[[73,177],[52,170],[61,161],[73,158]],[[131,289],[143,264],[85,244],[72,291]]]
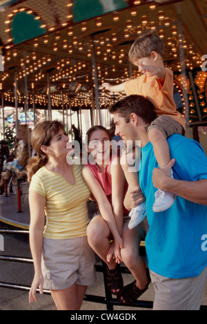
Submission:
[[[135,187],[134,189],[129,187],[124,198],[124,206],[128,211],[130,211],[132,208],[143,202],[144,199],[145,197],[139,187]]]

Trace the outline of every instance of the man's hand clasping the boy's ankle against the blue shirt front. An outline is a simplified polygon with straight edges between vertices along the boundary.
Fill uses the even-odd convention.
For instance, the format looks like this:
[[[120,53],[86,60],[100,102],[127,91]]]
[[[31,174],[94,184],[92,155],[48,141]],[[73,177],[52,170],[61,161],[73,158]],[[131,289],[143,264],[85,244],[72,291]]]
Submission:
[[[152,182],[155,188],[168,191],[169,180],[171,180],[171,169],[175,159],[170,160],[164,169],[155,168],[152,172]]]

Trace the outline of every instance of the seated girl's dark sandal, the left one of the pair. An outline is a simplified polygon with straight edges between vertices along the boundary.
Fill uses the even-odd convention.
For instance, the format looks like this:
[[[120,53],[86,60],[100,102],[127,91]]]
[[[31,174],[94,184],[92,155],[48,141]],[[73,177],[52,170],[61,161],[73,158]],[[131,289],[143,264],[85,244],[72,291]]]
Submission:
[[[124,282],[121,276],[120,265],[117,264],[115,269],[108,269],[108,266],[105,263],[104,265],[106,269],[106,284],[108,290],[113,295],[121,294],[124,287]],[[117,289],[119,289],[119,292],[117,292]]]

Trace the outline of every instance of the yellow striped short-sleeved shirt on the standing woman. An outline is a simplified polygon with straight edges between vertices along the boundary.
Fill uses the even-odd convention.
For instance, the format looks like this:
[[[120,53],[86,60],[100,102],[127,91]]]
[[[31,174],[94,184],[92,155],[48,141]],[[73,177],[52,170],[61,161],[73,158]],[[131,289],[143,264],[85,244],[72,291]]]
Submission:
[[[73,164],[75,184],[45,166],[32,176],[30,190],[46,197],[46,227],[43,236],[53,239],[86,236],[89,222],[87,201],[90,190],[84,182],[81,165]]]

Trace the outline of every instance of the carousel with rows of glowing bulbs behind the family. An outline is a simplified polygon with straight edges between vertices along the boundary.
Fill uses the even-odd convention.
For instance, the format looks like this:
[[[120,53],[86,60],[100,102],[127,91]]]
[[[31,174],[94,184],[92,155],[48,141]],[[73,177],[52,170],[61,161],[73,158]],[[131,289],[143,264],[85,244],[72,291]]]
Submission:
[[[204,0],[0,0],[0,221],[28,229],[34,124],[58,118],[81,143],[90,126],[110,128],[124,93],[101,84],[139,76],[128,50],[146,30],[163,39],[187,136],[207,151],[206,29]]]

